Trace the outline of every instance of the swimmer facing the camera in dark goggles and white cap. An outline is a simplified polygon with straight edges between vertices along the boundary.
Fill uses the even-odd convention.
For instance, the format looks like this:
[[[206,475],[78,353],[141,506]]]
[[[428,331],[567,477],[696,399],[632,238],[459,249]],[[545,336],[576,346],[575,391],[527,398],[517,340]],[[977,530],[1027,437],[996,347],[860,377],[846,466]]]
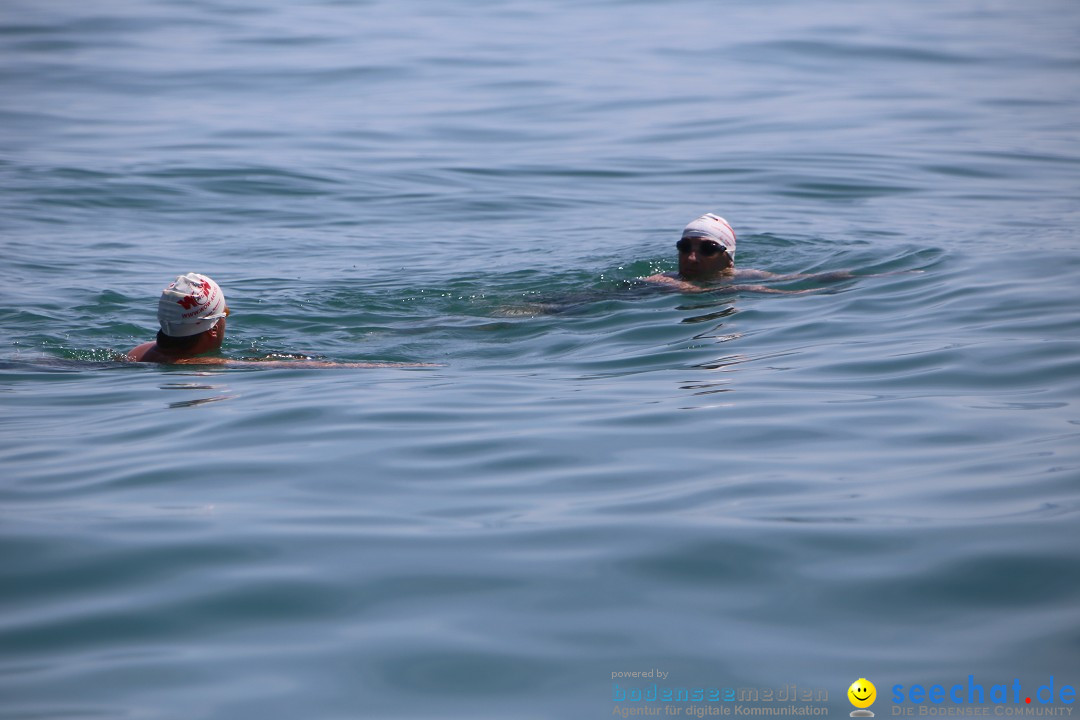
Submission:
[[[706,293],[716,289],[716,281],[740,280],[799,280],[821,281],[847,280],[850,272],[831,272],[820,275],[780,275],[764,270],[735,270],[735,231],[719,215],[706,213],[690,222],[683,230],[683,236],[675,243],[678,249],[678,270],[643,277],[645,282],[665,285],[686,293]],[[765,285],[725,285],[728,290],[752,290],[756,293],[800,294],[812,290],[781,290]]]

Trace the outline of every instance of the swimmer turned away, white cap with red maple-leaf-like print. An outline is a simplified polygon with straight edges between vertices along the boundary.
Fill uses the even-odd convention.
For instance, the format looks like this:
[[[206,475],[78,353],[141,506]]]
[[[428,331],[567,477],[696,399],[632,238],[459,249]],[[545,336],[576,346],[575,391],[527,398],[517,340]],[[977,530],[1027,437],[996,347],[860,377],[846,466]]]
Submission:
[[[220,286],[206,275],[179,275],[158,300],[158,338],[133,348],[124,359],[163,365],[254,365],[260,367],[432,367],[402,363],[332,363],[326,361],[246,359],[214,356],[225,340],[229,305]]]

